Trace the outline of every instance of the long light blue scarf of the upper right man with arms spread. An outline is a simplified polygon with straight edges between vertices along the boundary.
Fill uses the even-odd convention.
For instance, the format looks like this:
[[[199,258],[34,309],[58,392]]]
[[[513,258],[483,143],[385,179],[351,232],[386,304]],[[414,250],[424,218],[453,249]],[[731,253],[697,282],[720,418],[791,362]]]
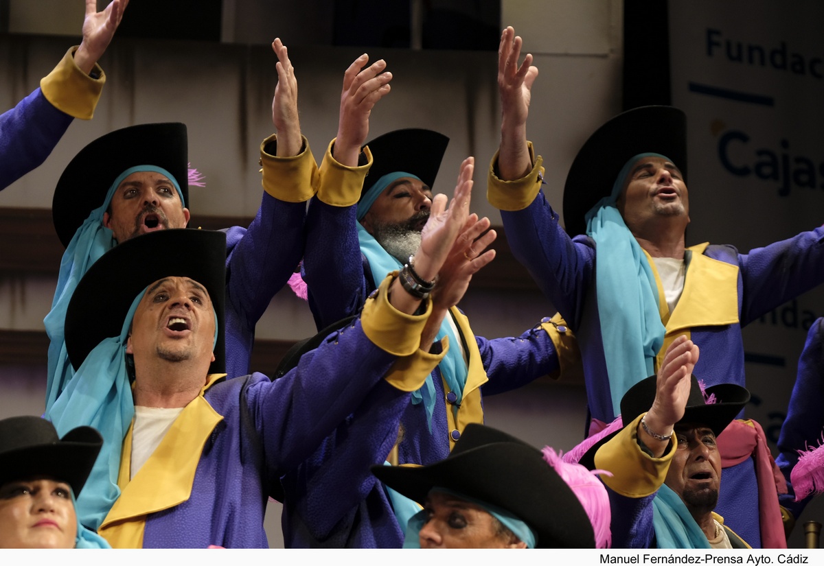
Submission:
[[[650,156],[668,160],[657,153],[635,155],[620,170],[611,195],[592,206],[586,216],[587,234],[596,244],[598,318],[613,417],[620,414],[624,393],[655,373],[655,356],[664,341],[652,267],[615,204],[631,167]]]

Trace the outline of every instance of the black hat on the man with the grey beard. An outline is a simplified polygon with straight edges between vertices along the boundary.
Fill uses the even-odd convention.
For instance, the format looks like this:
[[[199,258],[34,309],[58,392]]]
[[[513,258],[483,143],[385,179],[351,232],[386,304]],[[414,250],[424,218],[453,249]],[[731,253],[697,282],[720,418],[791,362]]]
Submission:
[[[442,133],[422,128],[393,130],[369,141],[365,146],[369,146],[374,161],[363,181],[361,196],[377,179],[395,171],[417,175],[433,187],[448,144],[449,138]]]

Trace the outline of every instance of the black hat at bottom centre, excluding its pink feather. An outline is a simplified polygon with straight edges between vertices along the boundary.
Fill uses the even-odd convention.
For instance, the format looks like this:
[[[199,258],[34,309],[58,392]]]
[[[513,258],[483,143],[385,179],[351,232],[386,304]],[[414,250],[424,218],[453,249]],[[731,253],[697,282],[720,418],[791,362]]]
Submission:
[[[538,548],[595,548],[587,513],[541,451],[488,426],[467,424],[441,462],[372,466],[372,473],[421,504],[441,487],[503,508],[535,532]]]

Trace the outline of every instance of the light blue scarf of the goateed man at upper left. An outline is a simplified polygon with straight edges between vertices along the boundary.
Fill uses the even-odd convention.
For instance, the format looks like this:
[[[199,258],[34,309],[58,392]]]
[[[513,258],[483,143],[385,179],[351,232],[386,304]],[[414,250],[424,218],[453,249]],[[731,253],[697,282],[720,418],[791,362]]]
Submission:
[[[106,193],[103,205],[91,211],[88,218],[75,232],[72,241],[69,242],[66,251],[63,252],[63,259],[60,261],[60,273],[57,281],[57,289],[54,291],[52,308],[43,319],[46,334],[49,336],[49,367],[46,377],[46,411],[54,405],[54,402],[63,391],[63,387],[74,375],[72,364],[68,360],[66,352],[66,339],[63,325],[66,321],[66,309],[72,299],[77,284],[86,274],[89,267],[101,256],[114,248],[117,242],[111,230],[103,226],[103,214],[109,209],[112,197],[119,184],[130,174],[138,171],[154,171],[166,175],[166,178],[175,185],[180,202],[183,202],[183,192],[180,190],[180,183],[177,182],[171,173],[155,167],[154,165],[138,165],[126,169],[119,175],[115,182],[111,184]],[[77,188],[82,190],[82,188]],[[183,206],[181,204],[181,206]]]

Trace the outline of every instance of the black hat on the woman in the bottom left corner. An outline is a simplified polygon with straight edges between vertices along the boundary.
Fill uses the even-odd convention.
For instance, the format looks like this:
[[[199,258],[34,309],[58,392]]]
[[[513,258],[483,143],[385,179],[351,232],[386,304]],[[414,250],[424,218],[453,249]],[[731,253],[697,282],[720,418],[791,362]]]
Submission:
[[[91,426],[78,426],[59,438],[54,425],[39,416],[0,420],[0,485],[47,476],[83,489],[103,446]]]

